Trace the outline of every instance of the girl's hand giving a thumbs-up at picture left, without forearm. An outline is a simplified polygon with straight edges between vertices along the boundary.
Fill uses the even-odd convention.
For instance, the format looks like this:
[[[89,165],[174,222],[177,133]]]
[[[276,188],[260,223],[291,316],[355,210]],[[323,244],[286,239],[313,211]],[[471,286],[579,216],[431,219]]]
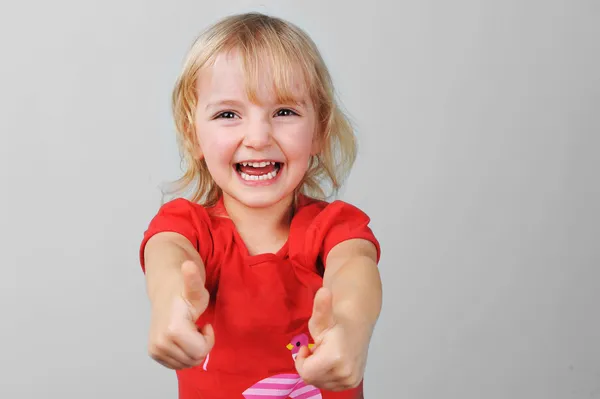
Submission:
[[[183,290],[153,305],[150,325],[150,356],[171,369],[201,364],[215,342],[210,325],[200,331],[196,326],[209,302],[198,266],[192,261],[184,262],[181,273]]]

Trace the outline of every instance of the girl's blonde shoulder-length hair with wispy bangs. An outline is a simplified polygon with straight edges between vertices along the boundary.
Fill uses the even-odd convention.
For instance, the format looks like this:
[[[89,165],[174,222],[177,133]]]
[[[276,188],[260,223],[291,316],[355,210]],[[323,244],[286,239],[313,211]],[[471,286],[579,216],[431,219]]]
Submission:
[[[172,111],[185,172],[174,183],[175,191],[191,188],[193,202],[214,205],[221,190],[204,159],[195,157],[197,78],[220,53],[236,50],[243,59],[247,95],[256,101],[259,71],[270,67],[279,101],[293,99],[291,76],[299,67],[317,114],[319,153],[296,190],[326,199],[338,192],[356,159],[357,144],[348,117],[335,99],[329,71],[311,38],[296,25],[261,13],[228,16],[205,30],[193,43],[173,90]],[[330,186],[326,193],[325,186]]]

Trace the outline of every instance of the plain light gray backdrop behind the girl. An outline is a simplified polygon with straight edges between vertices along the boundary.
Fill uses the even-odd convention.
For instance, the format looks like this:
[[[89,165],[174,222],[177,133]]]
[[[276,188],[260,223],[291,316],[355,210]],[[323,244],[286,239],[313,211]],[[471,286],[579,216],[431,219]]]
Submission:
[[[600,397],[600,5],[0,6],[0,397],[175,398],[138,245],[178,176],[172,85],[221,16],[319,44],[383,246],[367,398]]]

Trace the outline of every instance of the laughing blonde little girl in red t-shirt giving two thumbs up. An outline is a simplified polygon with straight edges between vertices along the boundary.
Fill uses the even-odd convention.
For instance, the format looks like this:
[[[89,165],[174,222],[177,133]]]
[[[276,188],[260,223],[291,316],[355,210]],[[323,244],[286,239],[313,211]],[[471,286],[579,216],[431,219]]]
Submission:
[[[151,357],[181,399],[362,398],[380,248],[367,215],[324,199],[356,150],[316,46],[278,18],[225,18],[173,110],[192,195],[143,236]]]

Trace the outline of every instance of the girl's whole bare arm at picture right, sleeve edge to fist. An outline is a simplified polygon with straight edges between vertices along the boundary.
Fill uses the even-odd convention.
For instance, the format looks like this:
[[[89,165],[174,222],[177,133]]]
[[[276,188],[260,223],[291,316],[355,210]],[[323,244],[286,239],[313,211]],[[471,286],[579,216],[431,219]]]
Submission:
[[[332,248],[308,322],[315,346],[302,347],[296,356],[307,384],[332,391],[360,384],[381,302],[376,247],[352,239]]]

